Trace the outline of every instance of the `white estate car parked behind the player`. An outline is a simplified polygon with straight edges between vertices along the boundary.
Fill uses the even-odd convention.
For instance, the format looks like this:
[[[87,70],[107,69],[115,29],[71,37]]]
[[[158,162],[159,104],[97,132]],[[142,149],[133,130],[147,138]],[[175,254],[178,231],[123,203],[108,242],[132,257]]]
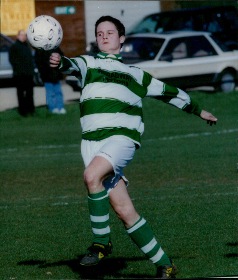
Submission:
[[[142,33],[126,37],[123,62],[181,89],[213,86],[229,92],[237,85],[237,50],[229,51],[212,34],[197,31]],[[77,78],[66,83],[80,90]]]

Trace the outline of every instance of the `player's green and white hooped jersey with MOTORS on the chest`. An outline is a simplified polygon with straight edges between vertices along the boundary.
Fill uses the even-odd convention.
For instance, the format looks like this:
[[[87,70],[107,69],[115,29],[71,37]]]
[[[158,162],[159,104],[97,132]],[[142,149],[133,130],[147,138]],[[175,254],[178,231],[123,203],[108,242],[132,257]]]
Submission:
[[[186,92],[152,78],[147,72],[122,63],[121,55],[98,53],[61,57],[59,70],[74,75],[81,85],[82,138],[102,140],[124,135],[140,147],[144,131],[142,98],[150,96],[200,115],[201,109]]]

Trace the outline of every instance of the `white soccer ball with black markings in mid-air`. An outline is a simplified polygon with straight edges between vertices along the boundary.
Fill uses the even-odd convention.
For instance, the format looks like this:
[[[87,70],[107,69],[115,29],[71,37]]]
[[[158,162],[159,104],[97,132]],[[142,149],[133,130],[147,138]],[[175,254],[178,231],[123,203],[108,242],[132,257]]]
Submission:
[[[34,49],[50,50],[59,47],[63,31],[52,16],[37,16],[27,28],[27,40]]]

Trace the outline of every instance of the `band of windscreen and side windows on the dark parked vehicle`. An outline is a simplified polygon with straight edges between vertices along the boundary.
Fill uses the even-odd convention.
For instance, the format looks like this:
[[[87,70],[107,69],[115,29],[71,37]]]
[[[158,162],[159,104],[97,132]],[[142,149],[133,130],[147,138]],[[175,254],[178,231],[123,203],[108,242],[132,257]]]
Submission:
[[[231,7],[180,10],[152,14],[131,27],[127,35],[174,30],[237,32],[237,10]]]

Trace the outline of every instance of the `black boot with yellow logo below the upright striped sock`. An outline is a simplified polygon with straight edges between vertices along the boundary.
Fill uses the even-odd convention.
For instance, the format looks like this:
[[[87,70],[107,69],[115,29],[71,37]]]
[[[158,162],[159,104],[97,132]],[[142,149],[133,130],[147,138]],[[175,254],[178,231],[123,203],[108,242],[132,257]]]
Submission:
[[[111,239],[109,239],[108,245],[93,243],[93,245],[88,248],[88,252],[82,258],[80,264],[88,266],[98,264],[105,256],[112,253],[112,248]]]

